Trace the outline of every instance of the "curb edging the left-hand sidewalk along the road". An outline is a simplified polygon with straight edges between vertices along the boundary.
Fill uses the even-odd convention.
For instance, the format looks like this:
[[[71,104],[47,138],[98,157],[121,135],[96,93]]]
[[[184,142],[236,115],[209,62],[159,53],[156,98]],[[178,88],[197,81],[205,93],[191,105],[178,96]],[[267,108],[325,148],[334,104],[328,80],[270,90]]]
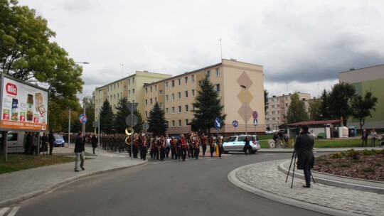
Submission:
[[[138,164],[133,164],[133,165],[130,165],[130,166],[122,166],[122,167],[119,167],[119,168],[109,168],[109,169],[105,169],[105,170],[102,170],[102,171],[96,171],[96,172],[93,172],[93,173],[85,173],[85,174],[82,174],[82,175],[78,175],[78,176],[75,176],[74,178],[68,178],[66,180],[63,180],[59,183],[56,183],[55,185],[51,185],[43,190],[36,190],[36,191],[33,191],[31,193],[26,193],[24,195],[21,195],[17,198],[11,198],[9,200],[4,200],[4,201],[1,201],[0,202],[0,207],[6,207],[6,206],[9,206],[9,205],[13,205],[17,202],[21,202],[23,200],[28,200],[30,198],[34,198],[38,195],[41,195],[43,193],[47,193],[49,192],[50,190],[54,190],[56,188],[60,188],[68,183],[72,183],[73,181],[75,180],[79,180],[81,178],[85,178],[85,177],[88,177],[88,176],[91,176],[91,175],[97,175],[97,174],[101,174],[101,173],[108,173],[108,172],[112,172],[112,171],[118,171],[118,170],[122,170],[122,169],[126,169],[126,168],[132,168],[134,166],[142,166],[146,163],[149,163],[148,160],[146,160],[145,162],[142,162],[142,163],[138,163]]]

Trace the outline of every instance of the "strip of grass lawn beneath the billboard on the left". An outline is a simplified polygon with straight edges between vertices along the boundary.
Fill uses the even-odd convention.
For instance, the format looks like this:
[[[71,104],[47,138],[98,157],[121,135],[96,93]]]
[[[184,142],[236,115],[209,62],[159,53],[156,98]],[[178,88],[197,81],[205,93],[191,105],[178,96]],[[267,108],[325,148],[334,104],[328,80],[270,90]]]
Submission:
[[[90,159],[90,158],[85,158]],[[50,166],[60,163],[75,162],[75,157],[69,156],[26,156],[23,154],[9,154],[7,161],[0,156],[0,174],[22,171],[29,168]]]

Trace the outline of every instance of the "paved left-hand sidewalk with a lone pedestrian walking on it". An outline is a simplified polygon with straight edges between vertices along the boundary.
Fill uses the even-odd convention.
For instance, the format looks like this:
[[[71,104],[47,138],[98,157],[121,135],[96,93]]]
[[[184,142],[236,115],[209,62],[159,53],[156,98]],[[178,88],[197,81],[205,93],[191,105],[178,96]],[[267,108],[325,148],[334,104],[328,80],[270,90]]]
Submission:
[[[70,148],[56,147],[53,148],[53,153],[74,156],[73,147],[73,144],[70,145]],[[85,157],[92,157],[92,160],[86,160],[85,171],[80,170],[78,173],[74,171],[75,163],[65,163],[0,175],[0,207],[33,198],[89,175],[138,166],[147,162],[138,159],[131,160],[129,156],[121,153],[104,150],[96,153],[94,155],[92,148],[86,146]]]

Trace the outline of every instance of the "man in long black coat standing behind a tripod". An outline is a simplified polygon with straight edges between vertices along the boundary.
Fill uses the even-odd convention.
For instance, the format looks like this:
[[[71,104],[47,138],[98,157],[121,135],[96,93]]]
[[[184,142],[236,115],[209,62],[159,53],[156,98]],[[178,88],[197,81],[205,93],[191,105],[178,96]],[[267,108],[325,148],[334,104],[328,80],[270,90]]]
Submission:
[[[297,153],[297,169],[304,171],[305,183],[304,188],[311,187],[311,168],[314,168],[314,136],[309,134],[308,125],[302,126],[302,131],[297,136],[294,144],[294,151]]]

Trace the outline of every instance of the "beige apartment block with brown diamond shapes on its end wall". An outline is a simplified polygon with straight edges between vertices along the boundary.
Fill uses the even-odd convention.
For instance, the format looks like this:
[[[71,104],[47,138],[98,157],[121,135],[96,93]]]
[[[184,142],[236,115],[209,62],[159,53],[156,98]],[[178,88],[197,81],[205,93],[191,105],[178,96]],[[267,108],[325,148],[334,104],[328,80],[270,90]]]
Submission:
[[[164,109],[168,122],[168,134],[186,134],[196,131],[191,123],[199,82],[208,76],[219,92],[223,113],[227,114],[225,126],[218,133],[225,135],[255,134],[265,130],[264,112],[264,77],[261,65],[242,63],[236,60],[225,60],[206,68],[185,72],[144,85],[144,113],[146,121],[149,112],[156,102]],[[243,86],[243,87],[241,87]],[[141,109],[142,110],[142,109]],[[254,126],[252,112],[258,114],[257,125]],[[238,121],[238,127],[232,122]],[[211,132],[216,132],[212,122]],[[205,131],[200,131],[205,132]]]

